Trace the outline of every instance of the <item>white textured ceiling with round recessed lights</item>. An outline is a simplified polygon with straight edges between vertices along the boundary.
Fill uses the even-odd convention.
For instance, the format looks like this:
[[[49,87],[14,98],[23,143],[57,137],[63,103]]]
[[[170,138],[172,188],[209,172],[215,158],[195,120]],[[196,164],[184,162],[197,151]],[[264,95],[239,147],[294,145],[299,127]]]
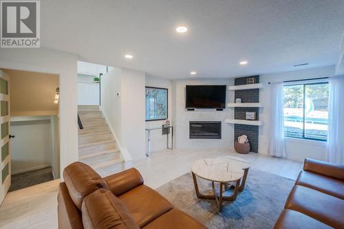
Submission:
[[[43,47],[172,79],[333,65],[344,31],[343,0],[44,0],[41,8]],[[177,34],[180,25],[188,32]]]

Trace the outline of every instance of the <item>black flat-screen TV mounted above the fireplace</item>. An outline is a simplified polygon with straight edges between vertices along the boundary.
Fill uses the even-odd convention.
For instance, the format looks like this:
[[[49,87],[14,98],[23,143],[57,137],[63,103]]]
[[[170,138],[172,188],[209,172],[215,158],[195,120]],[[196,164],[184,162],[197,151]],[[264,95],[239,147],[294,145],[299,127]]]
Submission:
[[[186,85],[186,108],[226,108],[226,85]]]

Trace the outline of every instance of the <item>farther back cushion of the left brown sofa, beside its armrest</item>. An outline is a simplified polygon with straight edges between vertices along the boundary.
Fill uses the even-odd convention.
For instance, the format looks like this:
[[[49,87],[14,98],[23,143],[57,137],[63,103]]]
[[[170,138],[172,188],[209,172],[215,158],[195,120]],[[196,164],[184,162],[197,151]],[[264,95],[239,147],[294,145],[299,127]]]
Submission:
[[[63,179],[68,188],[69,195],[76,207],[81,210],[84,197],[99,188],[107,188],[107,183],[85,163],[74,162],[63,170]]]

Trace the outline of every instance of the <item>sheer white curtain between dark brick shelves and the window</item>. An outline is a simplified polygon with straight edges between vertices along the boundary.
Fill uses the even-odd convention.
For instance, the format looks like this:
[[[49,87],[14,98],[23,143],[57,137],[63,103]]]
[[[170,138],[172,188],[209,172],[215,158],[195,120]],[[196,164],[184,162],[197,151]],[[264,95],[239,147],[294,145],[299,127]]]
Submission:
[[[287,157],[283,137],[283,83],[270,84],[270,148],[274,157]]]

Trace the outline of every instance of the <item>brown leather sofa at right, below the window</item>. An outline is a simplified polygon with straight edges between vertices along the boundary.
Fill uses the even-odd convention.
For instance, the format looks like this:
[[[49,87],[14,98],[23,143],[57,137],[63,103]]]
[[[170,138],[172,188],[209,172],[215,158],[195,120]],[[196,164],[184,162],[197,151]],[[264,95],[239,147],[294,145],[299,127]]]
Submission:
[[[344,166],[305,159],[279,228],[344,228]]]

